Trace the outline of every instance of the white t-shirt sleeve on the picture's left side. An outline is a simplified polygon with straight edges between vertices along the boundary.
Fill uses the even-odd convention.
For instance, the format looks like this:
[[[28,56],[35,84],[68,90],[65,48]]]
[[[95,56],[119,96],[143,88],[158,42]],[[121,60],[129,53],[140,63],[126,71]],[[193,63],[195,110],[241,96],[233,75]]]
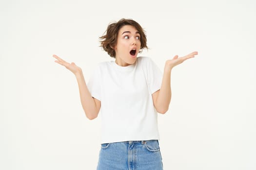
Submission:
[[[87,87],[92,97],[101,101],[101,74],[100,66],[98,65],[91,75]]]

